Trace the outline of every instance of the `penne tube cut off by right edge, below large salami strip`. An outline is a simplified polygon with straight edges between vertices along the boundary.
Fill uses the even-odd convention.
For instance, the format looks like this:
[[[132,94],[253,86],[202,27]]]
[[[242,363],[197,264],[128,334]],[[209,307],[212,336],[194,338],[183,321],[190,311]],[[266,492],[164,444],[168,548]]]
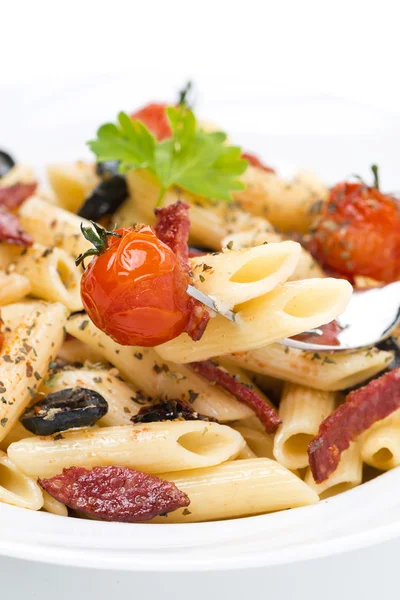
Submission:
[[[368,465],[388,471],[400,465],[400,411],[375,423],[360,438],[361,458]]]

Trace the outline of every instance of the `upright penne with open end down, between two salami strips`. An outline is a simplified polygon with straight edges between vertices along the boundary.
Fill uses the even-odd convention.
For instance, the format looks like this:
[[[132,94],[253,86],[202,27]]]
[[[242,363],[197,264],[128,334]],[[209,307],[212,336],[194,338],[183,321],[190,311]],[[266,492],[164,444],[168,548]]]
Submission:
[[[308,444],[318,434],[321,421],[335,409],[335,392],[286,383],[279,404],[279,426],[274,456],[287,469],[308,466]],[[245,438],[246,439],[246,438]]]

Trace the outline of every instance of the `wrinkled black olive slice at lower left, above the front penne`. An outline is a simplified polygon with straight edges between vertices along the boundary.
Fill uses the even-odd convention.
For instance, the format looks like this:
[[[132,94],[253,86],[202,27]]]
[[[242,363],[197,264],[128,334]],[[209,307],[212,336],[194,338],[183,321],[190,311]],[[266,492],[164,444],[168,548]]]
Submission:
[[[107,410],[108,404],[98,392],[67,388],[27,408],[20,421],[35,435],[52,435],[73,427],[94,425]]]

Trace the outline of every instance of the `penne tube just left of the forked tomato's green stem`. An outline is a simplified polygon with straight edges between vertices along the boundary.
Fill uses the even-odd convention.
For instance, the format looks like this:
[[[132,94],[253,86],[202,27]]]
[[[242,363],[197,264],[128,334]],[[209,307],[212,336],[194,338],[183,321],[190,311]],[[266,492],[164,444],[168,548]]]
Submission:
[[[58,206],[32,196],[19,209],[21,226],[33,239],[43,246],[56,246],[74,259],[90,248],[82,235],[81,224],[90,222]]]

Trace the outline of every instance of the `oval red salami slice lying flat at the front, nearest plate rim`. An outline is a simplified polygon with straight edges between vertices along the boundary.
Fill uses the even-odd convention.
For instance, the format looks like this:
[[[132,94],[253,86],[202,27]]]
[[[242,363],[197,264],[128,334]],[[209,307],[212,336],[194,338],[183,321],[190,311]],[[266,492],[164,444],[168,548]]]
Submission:
[[[70,467],[39,485],[59,502],[105,521],[148,521],[190,504],[174,483],[126,467]]]

